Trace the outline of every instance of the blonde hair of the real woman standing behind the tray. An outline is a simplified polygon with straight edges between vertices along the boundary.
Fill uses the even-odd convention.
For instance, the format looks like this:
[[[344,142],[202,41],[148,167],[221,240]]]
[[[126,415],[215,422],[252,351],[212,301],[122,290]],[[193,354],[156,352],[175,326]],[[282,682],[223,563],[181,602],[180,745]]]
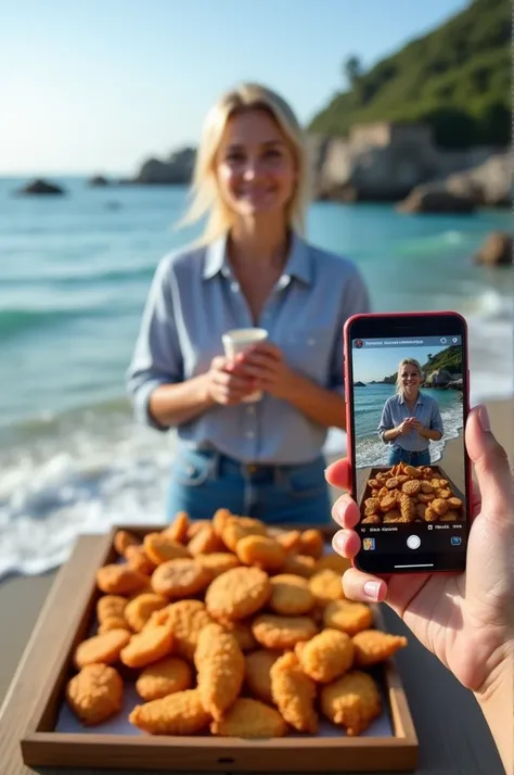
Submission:
[[[235,114],[257,110],[266,111],[277,122],[293,152],[297,182],[287,205],[286,218],[288,226],[300,233],[304,232],[308,189],[308,161],[304,131],[293,110],[282,97],[259,84],[241,84],[218,100],[204,122],[190,191],[191,204],[180,221],[180,225],[190,225],[207,215],[201,243],[205,244],[220,237],[234,221],[232,211],[219,195],[214,167],[227,123]]]

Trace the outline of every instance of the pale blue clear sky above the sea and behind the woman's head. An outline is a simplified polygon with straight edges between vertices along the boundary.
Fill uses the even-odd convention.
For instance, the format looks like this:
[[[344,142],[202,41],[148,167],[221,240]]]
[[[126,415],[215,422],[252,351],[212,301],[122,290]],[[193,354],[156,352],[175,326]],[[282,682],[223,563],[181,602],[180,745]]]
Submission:
[[[307,123],[467,0],[0,0],[0,175],[133,174],[257,80]]]

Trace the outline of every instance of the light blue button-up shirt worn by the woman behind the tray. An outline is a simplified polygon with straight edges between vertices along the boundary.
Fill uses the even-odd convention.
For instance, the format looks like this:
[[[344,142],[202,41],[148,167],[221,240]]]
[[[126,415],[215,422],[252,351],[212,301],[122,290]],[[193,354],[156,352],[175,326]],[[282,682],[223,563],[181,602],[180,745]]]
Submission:
[[[292,239],[284,271],[254,322],[231,271],[227,239],[165,256],[157,266],[127,374],[137,418],[158,430],[152,392],[205,373],[223,353],[221,335],[257,325],[288,366],[317,384],[343,391],[343,326],[369,312],[360,272],[346,258]],[[286,401],[216,406],[177,428],[180,444],[217,449],[242,462],[301,463],[320,455],[327,429]]]

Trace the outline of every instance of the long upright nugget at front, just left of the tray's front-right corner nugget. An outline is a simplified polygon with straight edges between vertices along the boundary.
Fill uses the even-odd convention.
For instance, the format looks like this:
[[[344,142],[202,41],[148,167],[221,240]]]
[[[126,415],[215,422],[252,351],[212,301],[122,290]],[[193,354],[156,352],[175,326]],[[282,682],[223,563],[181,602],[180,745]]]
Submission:
[[[271,695],[283,719],[298,732],[318,732],[316,683],[304,673],[297,656],[287,651],[270,670]]]

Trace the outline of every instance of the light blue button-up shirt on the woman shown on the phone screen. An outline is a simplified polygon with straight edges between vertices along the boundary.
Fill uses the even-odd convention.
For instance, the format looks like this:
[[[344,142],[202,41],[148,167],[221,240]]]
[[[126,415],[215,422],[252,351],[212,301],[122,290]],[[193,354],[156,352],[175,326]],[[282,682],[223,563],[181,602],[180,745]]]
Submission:
[[[439,431],[442,435],[445,429],[442,427],[441,414],[439,411],[439,405],[435,398],[424,393],[417,394],[417,401],[414,407],[414,415],[409,411],[403,395],[391,395],[387,398],[382,410],[381,422],[378,425],[378,435],[385,444],[389,444],[384,439],[384,433],[390,431],[407,420],[408,417],[414,416],[416,420],[421,422],[425,428],[429,428],[433,431]],[[412,428],[408,433],[402,433],[401,436],[397,436],[390,444],[393,446],[401,447],[408,452],[423,452],[428,449],[429,440],[422,436],[414,428]]]

